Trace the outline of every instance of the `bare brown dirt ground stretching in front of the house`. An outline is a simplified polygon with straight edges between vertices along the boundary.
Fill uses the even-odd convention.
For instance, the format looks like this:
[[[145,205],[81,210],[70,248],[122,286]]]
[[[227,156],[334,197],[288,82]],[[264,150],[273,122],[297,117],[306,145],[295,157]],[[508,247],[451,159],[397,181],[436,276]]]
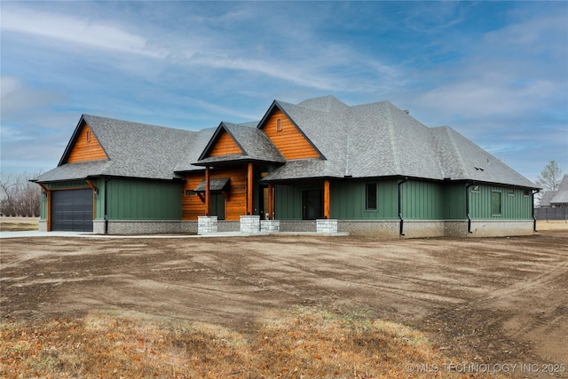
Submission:
[[[53,237],[4,239],[1,249],[3,320],[111,310],[247,333],[270,308],[356,307],[420,329],[451,356],[568,365],[565,231],[405,241]]]

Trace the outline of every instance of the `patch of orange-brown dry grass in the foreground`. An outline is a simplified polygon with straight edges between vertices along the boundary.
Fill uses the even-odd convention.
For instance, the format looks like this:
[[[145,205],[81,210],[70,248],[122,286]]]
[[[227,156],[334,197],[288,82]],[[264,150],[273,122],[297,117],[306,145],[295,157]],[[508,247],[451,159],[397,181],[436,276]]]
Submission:
[[[209,324],[112,314],[0,324],[0,376],[12,378],[490,377],[445,372],[449,361],[411,328],[313,308],[268,315],[248,337]],[[411,371],[409,364],[439,371]]]

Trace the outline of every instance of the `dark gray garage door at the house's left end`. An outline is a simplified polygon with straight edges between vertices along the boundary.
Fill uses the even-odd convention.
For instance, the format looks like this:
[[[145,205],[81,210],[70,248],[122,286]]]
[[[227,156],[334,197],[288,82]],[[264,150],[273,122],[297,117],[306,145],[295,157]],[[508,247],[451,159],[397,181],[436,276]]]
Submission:
[[[92,232],[91,188],[51,193],[51,230]]]

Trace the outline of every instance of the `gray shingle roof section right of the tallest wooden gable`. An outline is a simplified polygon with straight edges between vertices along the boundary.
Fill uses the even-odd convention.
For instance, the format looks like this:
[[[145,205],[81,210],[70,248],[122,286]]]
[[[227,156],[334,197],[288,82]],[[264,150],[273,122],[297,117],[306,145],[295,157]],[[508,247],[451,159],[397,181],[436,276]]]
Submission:
[[[326,164],[288,161],[265,180],[309,173],[312,178],[402,176],[536,187],[455,130],[429,128],[388,101],[349,107],[327,96],[275,104],[317,146]]]

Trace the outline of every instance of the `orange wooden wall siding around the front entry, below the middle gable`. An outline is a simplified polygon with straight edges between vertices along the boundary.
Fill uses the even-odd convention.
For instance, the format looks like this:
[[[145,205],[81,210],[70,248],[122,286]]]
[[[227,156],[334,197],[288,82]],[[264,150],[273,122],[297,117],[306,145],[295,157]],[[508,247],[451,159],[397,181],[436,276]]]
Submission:
[[[238,221],[247,214],[247,166],[241,165],[230,169],[211,169],[210,179],[231,178],[229,191],[225,201],[225,220]],[[184,195],[182,199],[182,218],[197,220],[206,213],[205,202],[197,194],[185,195],[193,191],[205,179],[205,170],[189,173],[185,176]]]

